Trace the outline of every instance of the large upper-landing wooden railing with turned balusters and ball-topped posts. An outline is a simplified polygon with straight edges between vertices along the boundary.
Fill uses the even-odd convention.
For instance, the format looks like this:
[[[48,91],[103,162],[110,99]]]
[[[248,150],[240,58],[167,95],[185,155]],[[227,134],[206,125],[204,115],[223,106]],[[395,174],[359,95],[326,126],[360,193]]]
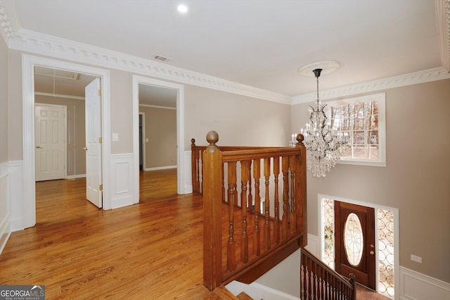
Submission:
[[[208,132],[210,144],[203,151],[193,148],[193,190],[203,194],[203,282],[208,289],[233,280],[251,283],[306,246],[302,138],[297,136],[295,147],[219,149],[217,132]]]

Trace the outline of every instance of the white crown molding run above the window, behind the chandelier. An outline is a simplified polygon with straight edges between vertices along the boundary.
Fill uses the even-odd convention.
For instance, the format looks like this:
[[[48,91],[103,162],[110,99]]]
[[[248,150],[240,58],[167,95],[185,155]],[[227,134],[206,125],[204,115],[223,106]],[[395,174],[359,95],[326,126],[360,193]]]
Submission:
[[[404,87],[406,85],[416,85],[418,83],[443,80],[448,78],[450,78],[450,73],[448,73],[445,68],[439,67],[394,77],[387,77],[380,80],[361,82],[356,85],[339,87],[337,89],[327,89],[319,92],[319,97],[321,100],[334,99],[339,97],[352,96],[355,94],[371,93],[384,89],[392,89],[393,87]],[[303,94],[294,96],[291,104],[308,103],[316,101],[316,99],[316,92]]]

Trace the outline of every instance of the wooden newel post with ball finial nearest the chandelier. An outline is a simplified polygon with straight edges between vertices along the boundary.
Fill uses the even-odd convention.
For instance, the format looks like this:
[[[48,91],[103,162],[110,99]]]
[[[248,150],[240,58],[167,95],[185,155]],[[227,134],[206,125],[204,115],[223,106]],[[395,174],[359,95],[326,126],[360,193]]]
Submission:
[[[295,159],[296,181],[295,182],[295,202],[296,207],[296,230],[303,231],[302,247],[307,246],[308,239],[308,218],[307,218],[307,149],[303,144],[304,137],[298,134],[296,147],[300,154]]]

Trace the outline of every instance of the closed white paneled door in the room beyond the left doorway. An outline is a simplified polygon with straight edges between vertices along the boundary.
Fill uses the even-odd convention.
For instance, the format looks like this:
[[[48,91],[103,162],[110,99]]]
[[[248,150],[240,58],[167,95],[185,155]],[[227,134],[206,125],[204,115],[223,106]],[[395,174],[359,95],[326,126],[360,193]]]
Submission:
[[[34,106],[36,181],[65,178],[65,107]]]

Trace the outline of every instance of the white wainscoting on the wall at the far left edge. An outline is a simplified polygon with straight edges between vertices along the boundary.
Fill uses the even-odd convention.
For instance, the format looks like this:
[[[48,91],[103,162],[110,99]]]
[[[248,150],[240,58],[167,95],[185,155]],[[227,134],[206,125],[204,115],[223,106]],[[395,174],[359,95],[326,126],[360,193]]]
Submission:
[[[8,186],[8,163],[0,163],[0,254],[11,235]]]

